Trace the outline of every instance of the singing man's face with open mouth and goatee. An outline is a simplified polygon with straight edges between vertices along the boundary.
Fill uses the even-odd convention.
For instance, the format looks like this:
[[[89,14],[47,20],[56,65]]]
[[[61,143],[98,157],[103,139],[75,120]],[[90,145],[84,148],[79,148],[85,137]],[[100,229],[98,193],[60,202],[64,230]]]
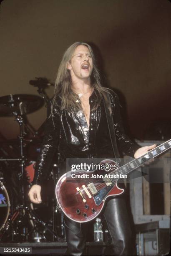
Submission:
[[[72,79],[88,79],[93,70],[93,60],[87,46],[79,45],[74,51],[73,57],[68,64]]]

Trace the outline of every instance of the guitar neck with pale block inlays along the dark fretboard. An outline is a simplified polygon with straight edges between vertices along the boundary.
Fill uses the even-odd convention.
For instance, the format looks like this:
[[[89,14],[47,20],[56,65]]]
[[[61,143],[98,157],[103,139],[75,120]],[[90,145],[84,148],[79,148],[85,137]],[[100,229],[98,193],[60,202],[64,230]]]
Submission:
[[[140,156],[136,159],[133,159],[132,161],[128,162],[127,164],[124,164],[111,174],[118,174],[118,175],[126,175],[129,172],[132,172],[133,170],[137,169],[141,164],[145,163],[146,161],[155,158],[156,156],[162,154],[163,152],[167,151],[169,148],[171,148],[171,139],[166,141],[165,143],[157,146],[156,148],[153,148],[152,150],[148,151],[143,156]]]

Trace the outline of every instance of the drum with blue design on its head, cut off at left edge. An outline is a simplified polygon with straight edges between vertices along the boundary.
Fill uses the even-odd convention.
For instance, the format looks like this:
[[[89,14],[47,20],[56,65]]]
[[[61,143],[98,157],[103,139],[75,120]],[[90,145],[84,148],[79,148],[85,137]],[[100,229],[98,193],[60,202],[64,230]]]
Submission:
[[[9,213],[10,199],[8,196],[8,192],[3,183],[0,182],[0,230],[4,228],[5,223],[8,220]]]

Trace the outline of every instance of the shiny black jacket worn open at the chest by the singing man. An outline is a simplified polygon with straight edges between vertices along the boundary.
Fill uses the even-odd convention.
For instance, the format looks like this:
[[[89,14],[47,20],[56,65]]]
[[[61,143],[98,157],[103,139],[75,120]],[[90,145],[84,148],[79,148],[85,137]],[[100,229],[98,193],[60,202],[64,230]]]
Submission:
[[[118,149],[133,157],[140,146],[124,133],[117,95],[113,92],[110,98]],[[98,100],[96,90],[89,98],[90,110],[95,100]],[[96,110],[90,112],[89,128],[83,110],[60,110],[58,105],[54,106],[52,115],[50,104],[48,106],[47,117],[50,118],[46,120],[45,136],[36,162],[33,184],[42,184],[56,151],[60,153],[59,164],[66,158],[114,157],[103,100]]]

